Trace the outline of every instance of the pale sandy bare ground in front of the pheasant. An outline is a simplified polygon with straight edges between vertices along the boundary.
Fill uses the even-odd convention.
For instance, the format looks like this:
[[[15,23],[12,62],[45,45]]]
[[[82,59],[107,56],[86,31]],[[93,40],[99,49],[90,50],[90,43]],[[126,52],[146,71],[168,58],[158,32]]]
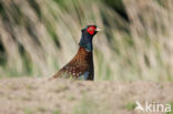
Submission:
[[[0,114],[165,114],[134,111],[135,101],[173,103],[173,83],[0,80]]]

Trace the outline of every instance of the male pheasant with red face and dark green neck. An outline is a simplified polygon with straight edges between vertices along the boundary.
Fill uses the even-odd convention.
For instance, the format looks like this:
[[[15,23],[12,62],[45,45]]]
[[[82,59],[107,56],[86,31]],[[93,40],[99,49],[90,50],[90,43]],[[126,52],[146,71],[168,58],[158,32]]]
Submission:
[[[80,48],[75,56],[58,71],[51,79],[64,77],[77,80],[93,80],[93,45],[92,39],[100,29],[96,25],[88,25],[82,29],[82,37],[80,40]]]

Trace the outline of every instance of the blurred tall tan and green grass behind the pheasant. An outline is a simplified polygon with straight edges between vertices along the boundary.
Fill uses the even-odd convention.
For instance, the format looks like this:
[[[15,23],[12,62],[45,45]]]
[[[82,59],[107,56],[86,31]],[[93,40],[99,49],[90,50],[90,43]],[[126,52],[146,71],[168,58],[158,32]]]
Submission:
[[[173,0],[0,0],[0,77],[51,76],[92,23],[95,80],[173,81]]]

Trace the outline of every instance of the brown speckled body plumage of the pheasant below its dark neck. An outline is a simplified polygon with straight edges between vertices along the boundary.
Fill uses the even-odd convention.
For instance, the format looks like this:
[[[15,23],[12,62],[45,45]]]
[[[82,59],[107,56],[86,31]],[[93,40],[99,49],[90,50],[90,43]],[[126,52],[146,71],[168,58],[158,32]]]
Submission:
[[[68,75],[68,77],[72,76],[73,79],[78,79],[85,71],[89,71],[88,80],[93,80],[94,70],[92,52],[88,52],[84,48],[80,48],[77,55],[57,72],[53,77],[64,77],[64,75]]]

